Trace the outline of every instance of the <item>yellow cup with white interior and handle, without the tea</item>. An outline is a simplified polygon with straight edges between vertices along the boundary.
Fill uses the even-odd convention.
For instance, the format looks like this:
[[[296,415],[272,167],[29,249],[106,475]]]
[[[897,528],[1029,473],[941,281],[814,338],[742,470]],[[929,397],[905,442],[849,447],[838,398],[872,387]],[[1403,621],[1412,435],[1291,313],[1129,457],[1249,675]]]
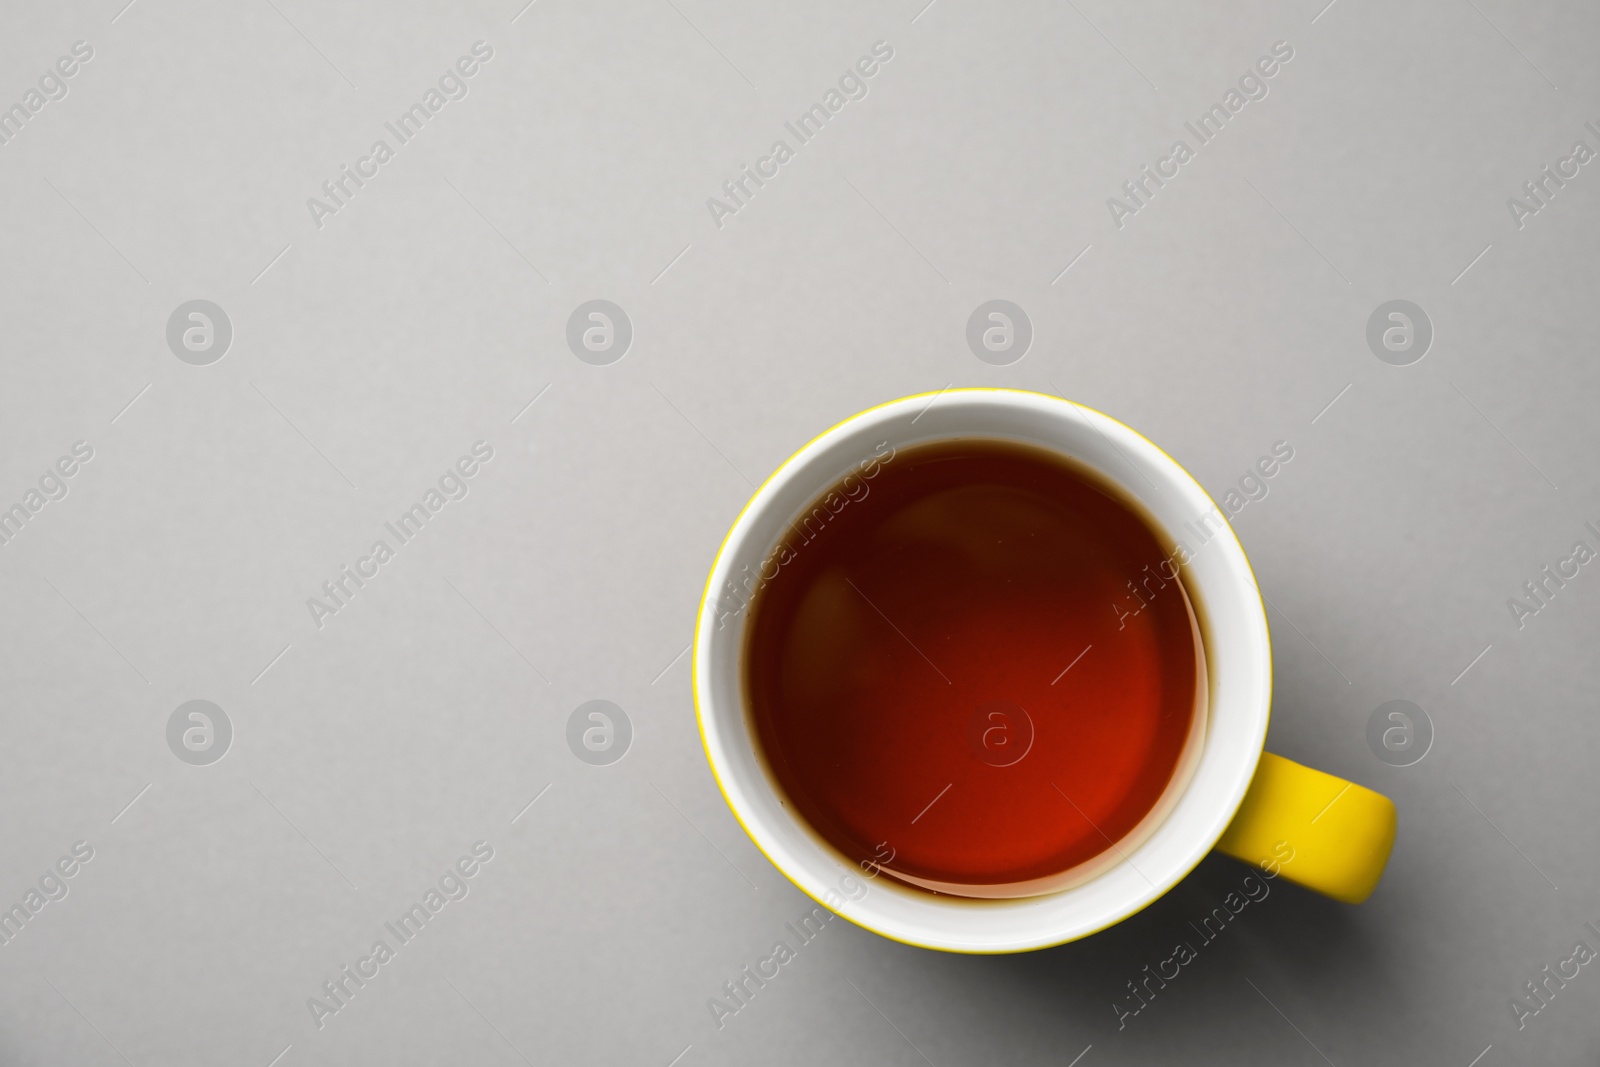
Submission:
[[[1182,581],[1205,648],[1208,717],[1192,774],[1160,824],[1096,877],[1011,899],[934,894],[854,862],[787,801],[760,752],[744,694],[747,605],[776,576],[773,550],[816,498],[885,448],[949,438],[1046,448],[1136,499],[1182,542]],[[1178,461],[1082,405],[1011,389],[947,389],[845,419],[786,461],[728,531],[701,598],[694,705],[723,798],[755,846],[803,893],[885,937],[947,952],[1022,952],[1085,937],[1144,909],[1219,849],[1338,901],[1360,904],[1394,846],[1395,806],[1262,750],[1272,707],[1267,614],[1227,517]]]

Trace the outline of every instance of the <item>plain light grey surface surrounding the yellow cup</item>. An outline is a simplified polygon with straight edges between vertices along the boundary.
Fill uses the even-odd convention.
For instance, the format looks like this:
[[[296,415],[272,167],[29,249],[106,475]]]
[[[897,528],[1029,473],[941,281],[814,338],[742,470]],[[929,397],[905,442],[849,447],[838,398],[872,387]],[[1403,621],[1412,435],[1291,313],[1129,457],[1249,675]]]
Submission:
[[[0,146],[0,501],[94,459],[0,547],[0,899],[96,851],[0,947],[0,1062],[1595,1062],[1594,968],[1522,1032],[1509,1003],[1600,949],[1600,569],[1520,630],[1506,600],[1597,545],[1600,171],[1522,229],[1506,198],[1600,147],[1600,11],[1323,2],[6,5],[0,102],[94,58]],[[475,40],[469,96],[317,229]],[[877,40],[867,98],[717,229]],[[1277,40],[1270,94],[1117,229]],[[165,342],[189,299],[232,320],[210,366]],[[590,299],[634,323],[610,366],[565,346]],[[966,347],[989,299],[1032,320],[1011,366]],[[1365,342],[1390,299],[1435,328],[1411,366]],[[810,902],[701,753],[706,571],[813,434],[950,384],[1107,411],[1218,496],[1293,445],[1235,518],[1270,749],[1394,797],[1394,861],[1355,909],[1278,883],[1123,1030],[1242,867],[1021,957],[835,921],[718,1030]],[[470,494],[317,629],[475,440]],[[190,699],[234,726],[210,766],[166,747]],[[590,699],[632,720],[610,766],[565,744]],[[1434,723],[1414,766],[1366,745],[1390,699]],[[477,840],[470,894],[315,1029]]]

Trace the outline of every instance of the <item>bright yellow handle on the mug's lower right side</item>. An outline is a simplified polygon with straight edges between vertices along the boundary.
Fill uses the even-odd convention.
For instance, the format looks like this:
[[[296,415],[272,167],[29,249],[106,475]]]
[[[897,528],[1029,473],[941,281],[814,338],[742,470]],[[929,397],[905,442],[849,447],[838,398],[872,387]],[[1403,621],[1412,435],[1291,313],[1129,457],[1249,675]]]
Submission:
[[[1395,843],[1395,805],[1382,793],[1270,752],[1218,851],[1346,904],[1378,886]]]

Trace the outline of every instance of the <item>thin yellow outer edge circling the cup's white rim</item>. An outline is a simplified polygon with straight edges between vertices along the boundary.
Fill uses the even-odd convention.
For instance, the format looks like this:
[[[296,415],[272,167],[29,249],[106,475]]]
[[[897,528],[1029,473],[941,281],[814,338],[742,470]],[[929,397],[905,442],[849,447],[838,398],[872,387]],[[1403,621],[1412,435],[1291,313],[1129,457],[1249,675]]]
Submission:
[[[1168,462],[1171,462],[1178,470],[1181,470],[1184,474],[1184,477],[1189,478],[1195,485],[1197,490],[1200,490],[1200,493],[1205,496],[1205,499],[1211,501],[1211,507],[1214,507],[1218,510],[1218,514],[1222,515],[1222,526],[1224,526],[1224,530],[1227,530],[1229,537],[1234,539],[1234,547],[1238,549],[1240,558],[1245,560],[1245,569],[1250,571],[1250,582],[1251,582],[1251,587],[1256,590],[1256,600],[1261,605],[1261,624],[1262,624],[1262,629],[1267,632],[1267,640],[1266,640],[1267,713],[1266,713],[1266,720],[1262,721],[1262,729],[1261,729],[1261,737],[1262,737],[1262,741],[1266,741],[1266,733],[1267,733],[1266,728],[1267,728],[1267,725],[1270,725],[1270,720],[1272,720],[1272,622],[1270,622],[1270,619],[1267,619],[1267,605],[1266,605],[1266,600],[1261,597],[1261,582],[1256,581],[1256,568],[1251,566],[1250,555],[1245,552],[1245,545],[1240,544],[1238,534],[1234,533],[1234,523],[1229,520],[1227,512],[1222,510],[1222,507],[1216,502],[1216,499],[1213,499],[1211,494],[1206,493],[1206,488],[1203,485],[1200,485],[1200,482],[1195,480],[1195,477],[1192,474],[1189,474],[1189,470],[1181,462],[1178,462],[1176,459],[1173,459],[1166,453],[1165,448],[1162,448],[1160,445],[1157,445],[1155,442],[1152,442],[1150,438],[1147,438],[1139,430],[1133,429],[1131,426],[1128,426],[1126,422],[1123,422],[1123,421],[1120,421],[1117,418],[1112,418],[1112,416],[1106,414],[1104,411],[1098,411],[1098,410],[1090,408],[1086,405],[1082,405],[1082,403],[1078,403],[1075,400],[1067,400],[1066,397],[1058,397],[1054,394],[1035,392],[1032,389],[1000,389],[1000,387],[989,387],[989,386],[973,386],[973,387],[962,387],[962,389],[941,389],[938,392],[920,392],[920,394],[910,394],[909,397],[898,397],[894,400],[885,400],[883,403],[872,405],[870,408],[864,408],[864,410],[861,410],[861,411],[858,411],[858,413],[854,413],[854,414],[851,414],[851,416],[848,416],[845,419],[840,419],[838,422],[835,422],[834,426],[827,427],[826,430],[822,430],[821,434],[818,434],[816,437],[813,437],[811,440],[808,440],[805,445],[802,445],[800,448],[797,448],[794,453],[790,453],[790,456],[787,459],[784,459],[781,464],[778,464],[778,467],[770,475],[766,475],[766,480],[762,482],[762,485],[755,490],[755,493],[750,494],[750,499],[744,502],[744,507],[739,509],[739,514],[734,515],[733,523],[728,526],[728,533],[723,534],[722,544],[717,545],[717,555],[712,557],[710,571],[706,574],[706,589],[701,592],[699,606],[696,608],[696,613],[694,613],[694,656],[690,661],[690,688],[693,689],[693,697],[694,697],[694,721],[696,721],[696,725],[699,728],[701,749],[706,753],[706,765],[710,766],[710,776],[717,782],[717,792],[722,793],[722,801],[728,806],[728,811],[733,813],[733,817],[738,821],[739,829],[742,829],[744,835],[747,838],[750,838],[750,843],[755,845],[757,851],[760,851],[762,856],[766,857],[766,862],[770,862],[778,870],[778,873],[781,873],[784,878],[787,878],[789,883],[794,888],[800,889],[800,893],[805,893],[811,901],[814,901],[818,905],[827,909],[830,913],[838,915],[843,920],[846,920],[850,923],[854,923],[856,926],[861,926],[862,929],[869,929],[869,931],[872,931],[874,934],[877,934],[880,937],[888,937],[890,941],[899,942],[902,945],[912,945],[915,949],[930,949],[933,952],[960,952],[963,955],[1011,955],[1014,952],[1037,952],[1040,949],[1051,949],[1054,945],[1064,945],[1064,944],[1069,944],[1072,941],[1082,941],[1083,937],[1090,937],[1093,934],[1101,933],[1102,929],[1109,929],[1110,926],[1115,926],[1120,921],[1133,918],[1134,915],[1138,915],[1139,912],[1142,912],[1144,909],[1150,907],[1152,904],[1155,904],[1157,901],[1160,901],[1163,896],[1166,896],[1166,893],[1171,891],[1171,886],[1176,886],[1179,881],[1182,881],[1184,878],[1187,878],[1194,872],[1194,869],[1198,867],[1200,862],[1206,856],[1211,854],[1211,849],[1216,846],[1216,838],[1221,838],[1222,832],[1227,829],[1227,824],[1232,822],[1234,814],[1238,811],[1240,803],[1243,803],[1243,800],[1245,800],[1245,789],[1250,787],[1250,781],[1251,781],[1251,777],[1254,774],[1254,765],[1251,766],[1251,773],[1246,774],[1245,779],[1243,779],[1245,789],[1240,790],[1238,798],[1229,806],[1229,809],[1227,809],[1227,819],[1224,819],[1222,825],[1218,827],[1214,838],[1206,845],[1205,851],[1202,851],[1200,856],[1198,856],[1198,859],[1195,859],[1195,862],[1189,864],[1189,867],[1184,869],[1184,872],[1181,875],[1178,875],[1176,878],[1173,878],[1171,886],[1168,886],[1162,893],[1157,893],[1154,897],[1150,897],[1144,904],[1141,904],[1141,905],[1134,907],[1133,910],[1125,912],[1125,913],[1118,915],[1117,918],[1112,918],[1112,920],[1109,920],[1109,921],[1106,921],[1106,923],[1102,923],[1102,925],[1099,925],[1099,926],[1096,926],[1093,929],[1086,929],[1082,934],[1075,934],[1072,937],[1062,937],[1061,941],[1043,942],[1043,944],[1026,947],[1026,949],[965,949],[965,947],[950,947],[950,945],[930,944],[930,942],[923,942],[923,941],[914,941],[914,939],[909,939],[909,937],[901,937],[901,936],[896,936],[896,934],[883,933],[882,929],[878,929],[875,926],[869,926],[867,923],[862,923],[862,921],[859,921],[859,920],[846,915],[845,912],[840,912],[840,910],[834,909],[832,905],[826,904],[819,896],[816,896],[814,893],[811,893],[810,889],[806,889],[803,885],[800,885],[798,881],[795,881],[795,878],[790,877],[790,873],[787,870],[784,870],[784,865],[779,864],[776,859],[773,859],[771,853],[768,853],[766,848],[762,846],[762,840],[750,830],[749,824],[744,821],[744,816],[739,813],[739,808],[728,797],[728,785],[722,781],[722,773],[717,769],[717,761],[712,758],[712,753],[710,753],[710,744],[706,739],[706,710],[701,707],[701,699],[699,699],[701,629],[704,627],[706,601],[710,597],[712,579],[715,579],[715,576],[717,576],[717,565],[722,563],[723,552],[728,549],[728,539],[733,537],[733,531],[739,528],[739,525],[744,522],[746,512],[749,512],[750,507],[755,504],[755,501],[758,501],[762,498],[762,494],[766,491],[766,486],[771,485],[773,480],[778,478],[778,475],[781,475],[784,470],[787,470],[789,466],[795,459],[798,459],[806,450],[811,448],[811,445],[818,443],[819,440],[822,440],[824,437],[827,437],[834,430],[840,429],[842,426],[846,426],[850,422],[854,422],[856,419],[866,418],[866,416],[872,414],[874,411],[882,411],[883,408],[891,408],[894,405],[906,403],[907,400],[920,400],[922,397],[933,397],[934,400],[938,400],[939,397],[957,395],[957,394],[1019,394],[1019,395],[1024,395],[1024,397],[1045,397],[1048,400],[1056,400],[1056,402],[1070,405],[1074,408],[1078,408],[1082,411],[1088,411],[1090,414],[1096,414],[1096,416],[1099,416],[1099,418],[1102,418],[1102,419],[1106,419],[1109,422],[1114,422],[1114,424],[1120,426],[1122,429],[1128,430],[1130,434],[1133,434],[1134,437],[1138,437],[1141,442],[1144,442],[1146,445],[1149,445],[1150,448],[1154,448]],[[930,406],[931,406],[931,402],[930,402]],[[1256,753],[1256,760],[1259,761],[1259,758],[1261,758],[1261,753],[1258,752]]]

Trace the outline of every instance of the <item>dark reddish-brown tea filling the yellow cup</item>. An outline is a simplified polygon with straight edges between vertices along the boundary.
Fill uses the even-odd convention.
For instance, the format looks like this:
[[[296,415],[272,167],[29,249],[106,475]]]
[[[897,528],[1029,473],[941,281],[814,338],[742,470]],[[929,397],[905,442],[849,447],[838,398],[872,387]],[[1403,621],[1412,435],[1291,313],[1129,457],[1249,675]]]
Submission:
[[[1149,827],[1205,667],[1171,553],[1115,488],[1043,450],[941,442],[824,494],[786,544],[746,697],[837,849],[1022,896]]]

